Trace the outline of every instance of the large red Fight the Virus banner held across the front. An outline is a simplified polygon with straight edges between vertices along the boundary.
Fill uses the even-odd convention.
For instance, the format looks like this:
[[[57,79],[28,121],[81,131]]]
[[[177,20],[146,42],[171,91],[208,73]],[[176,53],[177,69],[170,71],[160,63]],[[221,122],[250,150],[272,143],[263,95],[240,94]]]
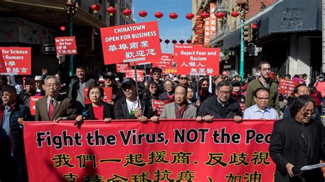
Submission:
[[[29,181],[273,181],[273,122],[25,122]],[[36,157],[37,156],[37,157]]]

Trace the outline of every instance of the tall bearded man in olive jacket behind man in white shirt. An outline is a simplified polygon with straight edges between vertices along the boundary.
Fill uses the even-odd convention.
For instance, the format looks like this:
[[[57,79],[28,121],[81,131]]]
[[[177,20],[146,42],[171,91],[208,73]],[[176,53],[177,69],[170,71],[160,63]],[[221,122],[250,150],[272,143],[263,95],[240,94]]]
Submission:
[[[278,99],[278,85],[270,79],[270,72],[271,65],[269,62],[260,62],[260,64],[258,64],[258,73],[261,75],[261,77],[248,83],[246,90],[245,108],[251,107],[255,104],[253,96],[256,89],[267,88],[269,90],[269,102],[267,105],[273,107],[278,112],[278,109],[280,109]]]

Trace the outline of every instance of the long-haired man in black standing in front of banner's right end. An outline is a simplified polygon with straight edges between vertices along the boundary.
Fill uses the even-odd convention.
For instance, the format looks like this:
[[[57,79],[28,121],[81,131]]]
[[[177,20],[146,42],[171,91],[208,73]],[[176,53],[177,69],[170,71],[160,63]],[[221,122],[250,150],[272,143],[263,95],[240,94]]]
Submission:
[[[302,166],[320,163],[324,158],[324,126],[313,120],[315,101],[298,96],[291,117],[274,122],[269,154],[276,164],[274,181],[324,181],[320,168],[300,171]]]

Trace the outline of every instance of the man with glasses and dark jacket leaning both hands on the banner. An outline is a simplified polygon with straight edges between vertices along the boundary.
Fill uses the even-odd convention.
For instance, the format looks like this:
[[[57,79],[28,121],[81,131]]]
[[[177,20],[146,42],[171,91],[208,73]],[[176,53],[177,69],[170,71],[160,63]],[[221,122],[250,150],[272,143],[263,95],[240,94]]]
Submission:
[[[197,114],[197,121],[210,122],[213,118],[234,119],[241,121],[241,107],[239,103],[231,97],[230,81],[221,81],[215,90],[215,95],[206,99]]]

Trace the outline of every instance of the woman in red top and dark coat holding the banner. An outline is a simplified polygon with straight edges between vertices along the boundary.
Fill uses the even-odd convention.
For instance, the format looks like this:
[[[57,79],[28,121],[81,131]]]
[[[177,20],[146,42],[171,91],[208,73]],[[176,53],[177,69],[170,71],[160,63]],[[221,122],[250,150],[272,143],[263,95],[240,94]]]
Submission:
[[[104,122],[110,122],[110,120],[114,119],[114,107],[102,101],[103,96],[103,88],[97,84],[91,86],[87,93],[87,98],[91,103],[86,105],[83,114],[77,116],[75,120],[104,120]]]

